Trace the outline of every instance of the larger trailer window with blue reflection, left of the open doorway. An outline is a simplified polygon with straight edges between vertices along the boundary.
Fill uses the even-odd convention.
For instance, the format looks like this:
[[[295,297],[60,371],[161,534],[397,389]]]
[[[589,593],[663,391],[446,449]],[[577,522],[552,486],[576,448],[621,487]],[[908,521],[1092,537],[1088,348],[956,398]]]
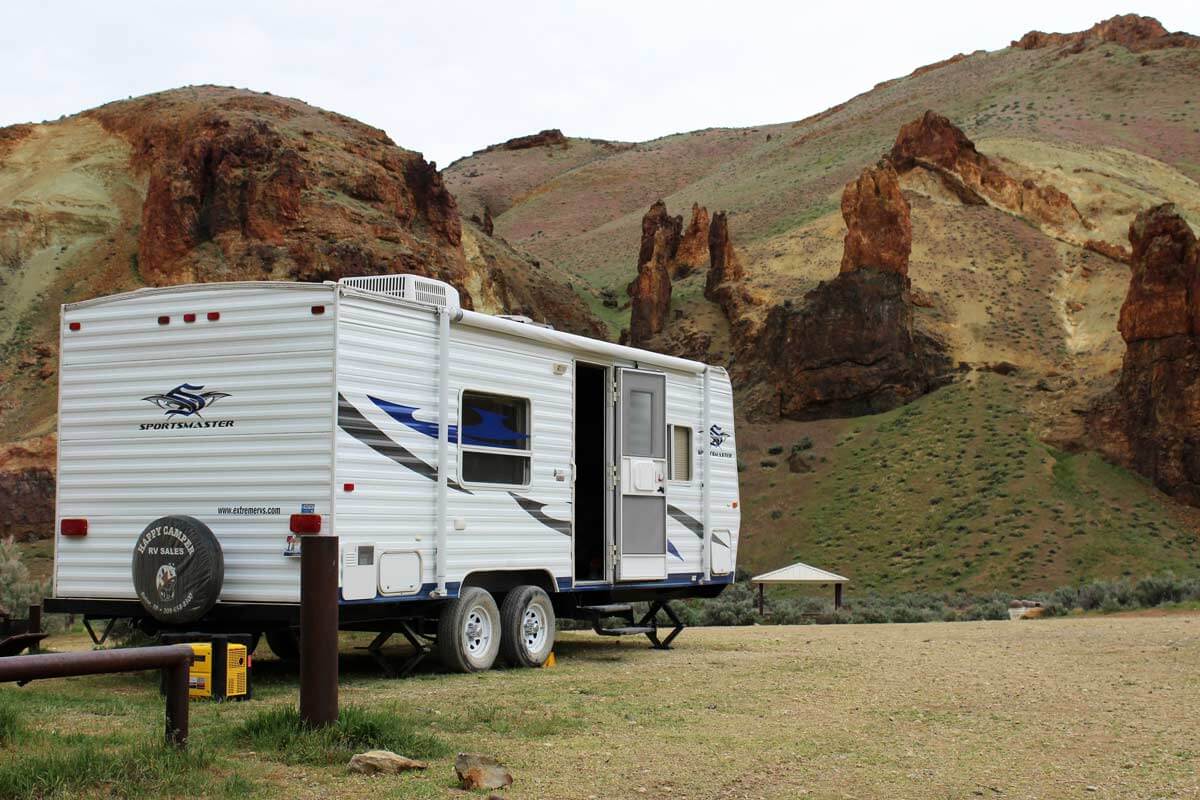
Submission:
[[[463,392],[458,413],[462,480],[524,486],[529,482],[529,401]]]

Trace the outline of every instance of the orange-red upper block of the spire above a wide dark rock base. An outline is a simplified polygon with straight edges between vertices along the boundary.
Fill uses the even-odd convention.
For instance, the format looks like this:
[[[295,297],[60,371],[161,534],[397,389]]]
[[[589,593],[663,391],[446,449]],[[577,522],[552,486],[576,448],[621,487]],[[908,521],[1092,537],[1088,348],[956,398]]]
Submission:
[[[900,192],[900,179],[892,163],[880,161],[846,184],[841,193],[841,216],[846,239],[841,271],[874,267],[908,275],[912,251],[912,221],[908,200]]]

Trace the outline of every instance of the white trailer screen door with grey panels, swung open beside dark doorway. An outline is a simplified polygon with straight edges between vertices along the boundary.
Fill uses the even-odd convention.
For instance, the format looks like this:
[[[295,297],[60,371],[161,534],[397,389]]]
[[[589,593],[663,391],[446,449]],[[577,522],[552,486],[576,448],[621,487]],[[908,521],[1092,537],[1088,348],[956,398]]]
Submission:
[[[666,375],[617,375],[617,579],[667,577]]]

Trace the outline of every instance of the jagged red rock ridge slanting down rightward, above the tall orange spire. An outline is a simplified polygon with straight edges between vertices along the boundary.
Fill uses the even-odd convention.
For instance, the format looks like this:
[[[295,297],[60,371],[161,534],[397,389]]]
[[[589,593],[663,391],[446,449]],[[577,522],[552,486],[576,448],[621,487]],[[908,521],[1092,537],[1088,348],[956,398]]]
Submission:
[[[1067,194],[1032,180],[1016,181],[976,150],[962,131],[935,112],[925,112],[920,119],[904,125],[890,155],[896,172],[906,173],[917,167],[929,169],[965,203],[986,198],[1054,228],[1085,224]]]

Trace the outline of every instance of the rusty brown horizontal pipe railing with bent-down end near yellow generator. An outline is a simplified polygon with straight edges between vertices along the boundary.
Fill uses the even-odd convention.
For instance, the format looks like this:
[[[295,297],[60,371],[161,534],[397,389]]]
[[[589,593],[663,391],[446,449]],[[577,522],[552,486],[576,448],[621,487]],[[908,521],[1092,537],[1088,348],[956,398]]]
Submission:
[[[187,744],[187,669],[191,666],[192,649],[186,644],[10,656],[0,658],[0,684],[161,669],[167,690],[167,742],[182,747]]]

